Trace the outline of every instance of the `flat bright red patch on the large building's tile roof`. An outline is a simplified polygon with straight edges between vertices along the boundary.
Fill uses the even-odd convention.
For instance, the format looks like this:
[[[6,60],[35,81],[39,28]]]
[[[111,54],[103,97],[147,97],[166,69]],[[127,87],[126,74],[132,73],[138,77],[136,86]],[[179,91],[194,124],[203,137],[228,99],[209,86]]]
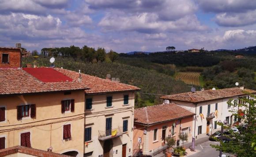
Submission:
[[[53,68],[23,68],[27,73],[33,77],[41,80],[42,82],[71,82],[72,78],[67,77],[63,73],[60,73]]]

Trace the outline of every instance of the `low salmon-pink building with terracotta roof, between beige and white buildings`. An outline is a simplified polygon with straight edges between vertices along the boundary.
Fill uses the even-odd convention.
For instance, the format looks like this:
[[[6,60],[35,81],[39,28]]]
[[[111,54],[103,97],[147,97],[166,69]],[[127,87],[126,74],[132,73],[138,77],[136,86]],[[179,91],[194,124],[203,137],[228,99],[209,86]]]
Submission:
[[[155,155],[166,148],[166,137],[173,137],[178,145],[179,134],[187,133],[192,141],[194,113],[174,103],[149,106],[134,112],[133,155]]]

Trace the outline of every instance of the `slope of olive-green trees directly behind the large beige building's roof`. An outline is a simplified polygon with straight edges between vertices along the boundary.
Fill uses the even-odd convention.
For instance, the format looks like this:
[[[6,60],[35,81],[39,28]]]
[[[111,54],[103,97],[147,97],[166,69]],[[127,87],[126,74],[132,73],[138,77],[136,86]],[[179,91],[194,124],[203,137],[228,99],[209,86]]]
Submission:
[[[23,58],[23,67],[26,63],[32,63],[33,58]],[[39,66],[50,66],[49,57],[38,58]],[[112,77],[119,77],[121,83],[131,84],[141,88],[142,93],[154,94],[175,94],[190,91],[190,87],[184,82],[175,80],[171,76],[163,73],[158,73],[154,70],[148,70],[135,66],[129,66],[120,63],[89,63],[75,61],[72,58],[57,57],[54,62],[56,67],[63,67],[74,71],[81,70],[81,73],[105,78],[107,74]],[[146,105],[155,105],[159,102],[159,96],[138,94],[136,105],[142,107]]]

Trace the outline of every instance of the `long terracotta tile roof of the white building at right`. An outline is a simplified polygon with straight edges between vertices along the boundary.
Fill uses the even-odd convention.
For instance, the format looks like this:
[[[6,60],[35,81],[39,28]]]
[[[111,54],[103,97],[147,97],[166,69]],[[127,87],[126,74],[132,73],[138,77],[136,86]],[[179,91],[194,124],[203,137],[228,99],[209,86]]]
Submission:
[[[184,102],[203,102],[214,99],[229,98],[238,95],[245,95],[244,92],[256,93],[254,90],[240,89],[240,88],[225,88],[218,90],[206,90],[206,91],[195,91],[187,92],[175,95],[165,95],[161,99],[179,100]]]

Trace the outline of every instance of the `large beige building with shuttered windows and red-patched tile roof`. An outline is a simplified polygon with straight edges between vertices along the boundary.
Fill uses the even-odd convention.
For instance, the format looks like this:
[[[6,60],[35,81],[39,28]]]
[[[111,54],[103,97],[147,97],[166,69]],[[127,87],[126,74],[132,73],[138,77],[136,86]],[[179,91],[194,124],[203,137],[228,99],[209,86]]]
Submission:
[[[21,145],[77,157],[131,156],[137,90],[67,69],[4,66],[0,149]]]

